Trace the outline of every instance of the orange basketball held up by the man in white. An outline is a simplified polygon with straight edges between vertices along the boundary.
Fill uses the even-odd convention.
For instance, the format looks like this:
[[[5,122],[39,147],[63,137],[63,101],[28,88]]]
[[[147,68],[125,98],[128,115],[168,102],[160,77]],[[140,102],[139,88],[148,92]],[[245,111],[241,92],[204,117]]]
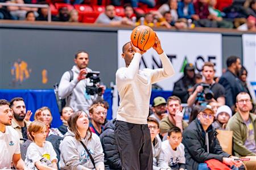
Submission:
[[[148,50],[155,44],[155,32],[146,25],[139,25],[131,32],[131,42],[140,50]]]

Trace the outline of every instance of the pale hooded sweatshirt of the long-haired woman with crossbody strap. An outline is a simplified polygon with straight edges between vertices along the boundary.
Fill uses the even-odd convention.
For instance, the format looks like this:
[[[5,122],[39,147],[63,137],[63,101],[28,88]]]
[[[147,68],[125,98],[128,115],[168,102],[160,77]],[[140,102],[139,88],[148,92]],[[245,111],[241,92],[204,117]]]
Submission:
[[[88,148],[95,166],[104,166],[104,153],[100,138],[92,133],[92,138],[88,140],[90,133],[87,133],[85,139],[81,139]],[[83,169],[84,167],[94,169],[92,160],[90,160],[85,148],[77,141],[75,134],[68,129],[63,142],[60,144],[60,169]]]

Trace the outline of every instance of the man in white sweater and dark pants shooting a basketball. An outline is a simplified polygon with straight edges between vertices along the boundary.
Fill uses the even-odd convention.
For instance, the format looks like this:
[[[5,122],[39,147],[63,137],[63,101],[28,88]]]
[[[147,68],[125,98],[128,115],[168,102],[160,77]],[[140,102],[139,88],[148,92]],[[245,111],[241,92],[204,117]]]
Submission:
[[[115,139],[121,157],[122,169],[152,169],[152,146],[147,116],[150,103],[151,85],[174,75],[170,59],[163,52],[156,36],[153,46],[159,54],[162,69],[139,70],[141,51],[131,42],[122,48],[126,67],[117,70],[116,83],[120,96],[115,127]]]

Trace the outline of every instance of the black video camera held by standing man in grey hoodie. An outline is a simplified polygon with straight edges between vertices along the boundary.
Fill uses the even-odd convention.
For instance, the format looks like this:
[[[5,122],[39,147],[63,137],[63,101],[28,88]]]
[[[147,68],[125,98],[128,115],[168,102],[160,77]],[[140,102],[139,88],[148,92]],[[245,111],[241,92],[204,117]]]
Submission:
[[[93,83],[92,86],[86,85],[86,93],[88,95],[99,95],[102,96],[103,89],[98,87],[98,84],[101,82],[100,71],[91,71],[86,74],[86,78],[89,78],[90,82]]]

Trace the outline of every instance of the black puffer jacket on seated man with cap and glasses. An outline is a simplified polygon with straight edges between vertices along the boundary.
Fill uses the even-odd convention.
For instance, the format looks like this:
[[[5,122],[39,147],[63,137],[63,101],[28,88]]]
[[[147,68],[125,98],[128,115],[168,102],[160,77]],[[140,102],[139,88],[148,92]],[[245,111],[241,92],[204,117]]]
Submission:
[[[207,134],[209,141],[209,152],[207,152]],[[222,151],[220,143],[216,137],[217,132],[212,125],[203,130],[200,121],[196,118],[183,132],[182,143],[185,146],[186,168],[188,170],[198,169],[200,163],[209,159],[217,159],[222,162],[222,158],[228,158],[230,155]]]

